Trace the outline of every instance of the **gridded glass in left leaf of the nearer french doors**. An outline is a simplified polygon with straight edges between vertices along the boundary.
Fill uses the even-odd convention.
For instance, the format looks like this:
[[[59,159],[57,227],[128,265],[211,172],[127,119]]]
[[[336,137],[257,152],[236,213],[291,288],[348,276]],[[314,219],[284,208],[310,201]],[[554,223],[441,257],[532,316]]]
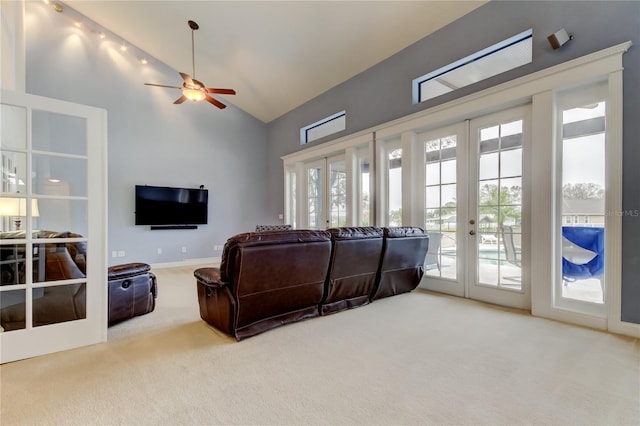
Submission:
[[[456,279],[456,135],[425,142],[426,274]]]

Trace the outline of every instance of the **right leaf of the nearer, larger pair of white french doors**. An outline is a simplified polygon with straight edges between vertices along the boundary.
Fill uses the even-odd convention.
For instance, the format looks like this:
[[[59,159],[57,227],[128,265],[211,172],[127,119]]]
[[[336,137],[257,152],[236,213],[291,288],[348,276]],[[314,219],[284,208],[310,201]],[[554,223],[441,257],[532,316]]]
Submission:
[[[469,123],[468,296],[529,309],[530,108]]]

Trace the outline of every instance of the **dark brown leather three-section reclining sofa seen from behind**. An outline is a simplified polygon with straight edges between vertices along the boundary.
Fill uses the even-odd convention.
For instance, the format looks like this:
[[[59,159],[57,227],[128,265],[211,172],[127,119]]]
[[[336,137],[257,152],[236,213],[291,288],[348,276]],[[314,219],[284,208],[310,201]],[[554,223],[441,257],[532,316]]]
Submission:
[[[251,232],[200,268],[200,317],[242,340],[415,289],[429,238],[415,227]]]

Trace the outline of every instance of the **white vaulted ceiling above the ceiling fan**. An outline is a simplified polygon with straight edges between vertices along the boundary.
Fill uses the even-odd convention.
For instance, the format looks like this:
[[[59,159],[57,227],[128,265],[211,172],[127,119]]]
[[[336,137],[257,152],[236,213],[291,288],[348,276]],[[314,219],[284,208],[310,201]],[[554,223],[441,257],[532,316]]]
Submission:
[[[485,3],[482,1],[86,1],[65,4],[176,71],[229,87],[269,122]],[[180,85],[176,74],[174,82]]]

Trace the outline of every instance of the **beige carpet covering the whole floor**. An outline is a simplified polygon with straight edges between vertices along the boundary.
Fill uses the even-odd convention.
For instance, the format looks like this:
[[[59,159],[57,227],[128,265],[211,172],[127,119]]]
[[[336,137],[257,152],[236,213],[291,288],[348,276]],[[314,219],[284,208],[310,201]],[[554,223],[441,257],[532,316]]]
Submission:
[[[640,344],[423,291],[241,343],[194,267],[109,342],[3,365],[2,425],[640,424]]]

